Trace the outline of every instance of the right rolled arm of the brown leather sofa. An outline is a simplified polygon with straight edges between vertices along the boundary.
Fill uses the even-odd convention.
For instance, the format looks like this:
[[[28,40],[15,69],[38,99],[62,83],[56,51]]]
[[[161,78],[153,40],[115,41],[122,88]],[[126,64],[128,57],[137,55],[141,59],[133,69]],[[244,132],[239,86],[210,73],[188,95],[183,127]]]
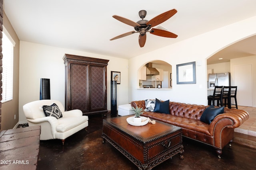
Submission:
[[[209,132],[211,135],[213,135],[216,126],[228,127],[232,129],[237,128],[248,118],[249,113],[247,111],[225,108],[224,113],[217,115],[212,123],[210,123]]]

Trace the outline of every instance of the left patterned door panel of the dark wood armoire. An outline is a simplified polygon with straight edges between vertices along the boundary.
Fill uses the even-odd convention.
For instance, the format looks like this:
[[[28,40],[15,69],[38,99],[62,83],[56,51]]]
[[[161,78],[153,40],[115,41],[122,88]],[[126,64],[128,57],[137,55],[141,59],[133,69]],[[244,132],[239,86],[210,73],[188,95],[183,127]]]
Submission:
[[[88,65],[70,64],[70,101],[72,109],[88,110]]]

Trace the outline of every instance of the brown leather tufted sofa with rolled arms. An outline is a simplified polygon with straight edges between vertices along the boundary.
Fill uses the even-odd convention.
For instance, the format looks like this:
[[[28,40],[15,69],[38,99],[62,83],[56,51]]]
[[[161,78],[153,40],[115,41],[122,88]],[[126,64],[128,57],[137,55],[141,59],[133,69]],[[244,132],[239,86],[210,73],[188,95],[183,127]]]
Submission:
[[[132,101],[131,106],[145,109],[145,101]],[[243,110],[225,107],[224,113],[217,115],[209,125],[200,121],[200,117],[207,107],[170,102],[170,114],[148,111],[144,112],[142,116],[181,127],[183,136],[214,147],[220,158],[223,147],[231,143],[234,138],[234,128],[242,125],[249,118],[249,114]]]

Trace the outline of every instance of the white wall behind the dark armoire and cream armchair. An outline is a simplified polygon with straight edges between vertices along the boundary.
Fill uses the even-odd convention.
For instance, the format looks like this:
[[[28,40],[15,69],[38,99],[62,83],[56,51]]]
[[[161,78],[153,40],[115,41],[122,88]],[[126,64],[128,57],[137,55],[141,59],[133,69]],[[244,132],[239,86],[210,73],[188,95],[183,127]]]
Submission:
[[[128,103],[128,60],[116,57],[51,47],[26,41],[20,41],[20,86],[19,121],[26,121],[22,106],[39,100],[40,78],[50,78],[51,99],[65,104],[65,65],[64,54],[82,55],[108,59],[107,66],[107,102],[110,109],[111,71],[121,72],[121,84],[117,86],[117,104]],[[118,64],[116,64],[118,63]]]

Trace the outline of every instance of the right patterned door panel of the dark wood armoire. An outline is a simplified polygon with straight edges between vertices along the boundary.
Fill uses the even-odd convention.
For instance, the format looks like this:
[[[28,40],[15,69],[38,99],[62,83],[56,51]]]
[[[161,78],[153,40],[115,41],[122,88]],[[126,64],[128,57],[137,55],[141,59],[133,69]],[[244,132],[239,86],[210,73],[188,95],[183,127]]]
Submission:
[[[90,100],[91,110],[105,108],[105,68],[99,66],[91,66],[90,77]]]

